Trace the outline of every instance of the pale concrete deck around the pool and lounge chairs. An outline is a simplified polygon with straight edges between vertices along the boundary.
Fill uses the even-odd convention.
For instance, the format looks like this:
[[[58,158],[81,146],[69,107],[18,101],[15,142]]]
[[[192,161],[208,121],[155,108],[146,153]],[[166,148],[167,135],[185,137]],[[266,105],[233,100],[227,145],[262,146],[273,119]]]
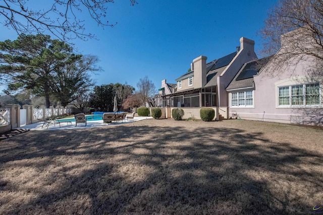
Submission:
[[[144,119],[152,119],[151,116],[135,116],[133,119],[130,119],[129,121],[116,121],[116,122],[112,122],[109,124],[104,123],[103,124],[103,120],[95,120],[95,121],[87,121],[86,122],[86,126],[85,123],[78,123],[77,126],[75,126],[75,122],[61,122],[61,127],[56,124],[56,126],[54,126],[54,124],[49,124],[48,129],[47,126],[43,126],[43,128],[41,128],[41,126],[43,125],[43,122],[36,122],[33,124],[29,124],[29,125],[23,125],[14,129],[27,129],[27,130],[65,130],[65,129],[82,129],[82,128],[95,128],[95,127],[102,127],[102,126],[116,126],[116,125],[122,125],[122,124],[128,124],[128,123],[132,123],[135,121],[140,121],[140,120],[144,120]]]

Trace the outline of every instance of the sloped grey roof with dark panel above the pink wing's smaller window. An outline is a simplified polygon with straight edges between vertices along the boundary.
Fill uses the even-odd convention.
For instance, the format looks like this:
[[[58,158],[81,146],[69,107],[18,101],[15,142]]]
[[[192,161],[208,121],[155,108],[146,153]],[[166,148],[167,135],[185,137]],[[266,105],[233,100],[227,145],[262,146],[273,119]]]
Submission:
[[[253,87],[253,76],[257,75],[272,58],[273,55],[244,63],[226,90]]]

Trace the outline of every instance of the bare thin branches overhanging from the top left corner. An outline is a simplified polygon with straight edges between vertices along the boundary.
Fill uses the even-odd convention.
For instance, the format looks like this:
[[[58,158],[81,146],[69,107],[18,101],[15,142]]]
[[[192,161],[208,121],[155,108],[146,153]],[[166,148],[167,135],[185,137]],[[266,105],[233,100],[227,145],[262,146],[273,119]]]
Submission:
[[[13,28],[18,34],[48,34],[46,31],[49,31],[64,40],[72,38],[86,40],[95,37],[85,32],[84,20],[80,20],[77,13],[82,13],[82,18],[87,13],[102,28],[117,24],[110,24],[106,20],[107,3],[114,3],[114,0],[46,0],[44,2],[48,8],[35,10],[32,3],[28,4],[27,0],[4,0],[0,3],[0,22],[6,27]],[[130,4],[133,6],[137,2],[130,0]]]

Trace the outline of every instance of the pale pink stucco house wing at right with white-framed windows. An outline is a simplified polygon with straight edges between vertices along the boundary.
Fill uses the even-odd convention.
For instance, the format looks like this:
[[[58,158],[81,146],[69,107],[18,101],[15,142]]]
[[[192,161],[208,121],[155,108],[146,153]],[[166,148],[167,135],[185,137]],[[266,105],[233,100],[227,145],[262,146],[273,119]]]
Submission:
[[[316,43],[303,38],[304,30],[282,35],[282,48],[274,56],[244,63],[226,88],[233,115],[242,119],[323,125],[321,73],[311,76],[315,57],[300,52]]]

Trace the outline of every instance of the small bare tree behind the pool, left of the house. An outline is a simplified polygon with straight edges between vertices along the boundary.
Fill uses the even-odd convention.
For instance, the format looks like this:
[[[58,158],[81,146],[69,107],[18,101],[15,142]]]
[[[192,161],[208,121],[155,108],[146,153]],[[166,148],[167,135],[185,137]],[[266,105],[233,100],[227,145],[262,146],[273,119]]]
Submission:
[[[145,105],[148,102],[149,97],[153,97],[156,93],[155,85],[148,79],[146,76],[143,79],[140,79],[137,83],[137,94],[142,105]]]

